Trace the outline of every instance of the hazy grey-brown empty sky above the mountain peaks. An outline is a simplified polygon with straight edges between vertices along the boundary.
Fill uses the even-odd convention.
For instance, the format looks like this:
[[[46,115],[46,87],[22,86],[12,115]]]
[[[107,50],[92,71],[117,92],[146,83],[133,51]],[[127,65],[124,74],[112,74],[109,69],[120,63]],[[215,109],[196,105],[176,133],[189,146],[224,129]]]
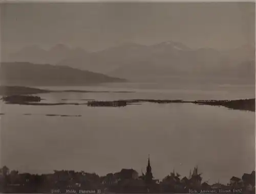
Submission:
[[[102,50],[124,42],[254,45],[254,3],[2,4],[2,51],[56,43]]]

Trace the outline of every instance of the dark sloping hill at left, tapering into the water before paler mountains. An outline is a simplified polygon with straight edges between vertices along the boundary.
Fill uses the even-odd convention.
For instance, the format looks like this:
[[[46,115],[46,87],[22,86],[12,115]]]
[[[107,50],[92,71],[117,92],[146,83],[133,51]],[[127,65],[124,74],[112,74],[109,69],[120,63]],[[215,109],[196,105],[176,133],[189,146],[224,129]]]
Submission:
[[[2,62],[0,70],[1,85],[82,86],[124,81],[87,70],[29,62]]]

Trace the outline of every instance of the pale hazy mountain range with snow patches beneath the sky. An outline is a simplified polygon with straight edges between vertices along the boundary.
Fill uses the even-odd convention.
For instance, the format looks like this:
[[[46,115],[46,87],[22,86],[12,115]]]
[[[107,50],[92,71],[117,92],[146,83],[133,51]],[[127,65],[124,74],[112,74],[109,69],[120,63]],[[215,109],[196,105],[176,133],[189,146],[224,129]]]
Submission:
[[[163,77],[204,79],[230,78],[254,82],[255,48],[250,45],[229,51],[192,49],[174,41],[154,45],[127,43],[99,52],[71,49],[63,44],[49,51],[25,47],[8,61],[28,61],[70,66],[129,80],[157,80]]]

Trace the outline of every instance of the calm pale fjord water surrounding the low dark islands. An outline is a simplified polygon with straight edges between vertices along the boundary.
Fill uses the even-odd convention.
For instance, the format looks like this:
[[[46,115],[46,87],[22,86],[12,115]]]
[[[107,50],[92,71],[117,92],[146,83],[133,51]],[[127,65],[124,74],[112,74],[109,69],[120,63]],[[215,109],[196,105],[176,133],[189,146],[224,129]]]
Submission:
[[[175,87],[159,84],[105,84],[42,87],[52,90],[133,91],[131,93],[52,92],[43,102],[120,99],[245,99],[254,87],[222,85]],[[65,101],[63,101],[65,100]],[[255,169],[255,113],[194,104],[117,107],[28,106],[2,103],[1,165],[29,173],[74,169],[99,175],[121,168],[145,171],[150,154],[153,175],[174,169],[188,176],[198,165],[203,181],[227,183]],[[25,115],[29,114],[29,115]],[[76,117],[47,114],[81,115]]]

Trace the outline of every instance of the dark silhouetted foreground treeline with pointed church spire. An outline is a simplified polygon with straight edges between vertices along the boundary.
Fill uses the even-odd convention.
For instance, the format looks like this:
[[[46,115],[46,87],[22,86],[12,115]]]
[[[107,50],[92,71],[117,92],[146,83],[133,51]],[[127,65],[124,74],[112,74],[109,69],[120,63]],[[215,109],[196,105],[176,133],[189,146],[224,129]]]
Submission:
[[[202,182],[198,167],[188,177],[175,171],[161,181],[154,179],[150,158],[145,174],[132,168],[99,176],[84,171],[54,171],[51,174],[29,174],[0,168],[0,192],[5,193],[255,193],[255,171],[241,178],[231,177],[229,183]]]

